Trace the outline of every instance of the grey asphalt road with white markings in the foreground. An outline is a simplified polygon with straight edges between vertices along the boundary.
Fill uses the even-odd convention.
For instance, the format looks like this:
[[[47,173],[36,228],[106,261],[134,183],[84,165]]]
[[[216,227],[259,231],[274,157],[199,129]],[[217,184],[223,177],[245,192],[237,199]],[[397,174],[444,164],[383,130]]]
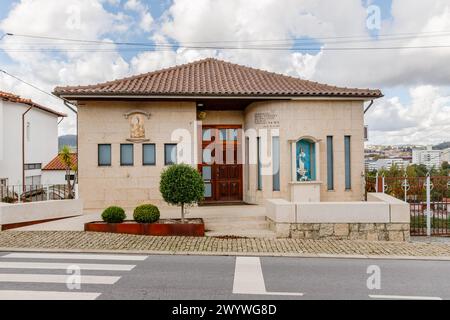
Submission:
[[[2,252],[0,299],[450,299],[449,272],[450,261]]]

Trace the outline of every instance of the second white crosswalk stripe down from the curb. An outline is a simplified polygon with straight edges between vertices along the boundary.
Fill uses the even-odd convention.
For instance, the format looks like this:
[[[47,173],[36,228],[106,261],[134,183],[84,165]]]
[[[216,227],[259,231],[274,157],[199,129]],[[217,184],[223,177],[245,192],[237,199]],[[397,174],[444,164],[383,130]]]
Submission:
[[[135,265],[53,262],[0,262],[1,269],[68,269],[74,266],[82,270],[130,271]]]

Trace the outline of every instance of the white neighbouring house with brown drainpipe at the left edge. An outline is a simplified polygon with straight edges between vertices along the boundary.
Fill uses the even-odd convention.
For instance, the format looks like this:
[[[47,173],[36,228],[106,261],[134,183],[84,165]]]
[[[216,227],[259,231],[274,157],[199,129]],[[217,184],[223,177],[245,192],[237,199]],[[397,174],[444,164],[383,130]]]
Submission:
[[[32,100],[0,91],[0,186],[42,184],[41,169],[58,153],[58,122],[63,117]]]

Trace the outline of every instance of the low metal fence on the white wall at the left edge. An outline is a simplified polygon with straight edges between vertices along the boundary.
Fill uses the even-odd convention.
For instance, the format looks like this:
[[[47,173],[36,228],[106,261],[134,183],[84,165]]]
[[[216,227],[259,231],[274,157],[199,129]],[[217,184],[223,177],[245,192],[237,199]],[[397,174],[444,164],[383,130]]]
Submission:
[[[0,202],[21,203],[47,200],[64,200],[73,198],[67,184],[0,186]]]

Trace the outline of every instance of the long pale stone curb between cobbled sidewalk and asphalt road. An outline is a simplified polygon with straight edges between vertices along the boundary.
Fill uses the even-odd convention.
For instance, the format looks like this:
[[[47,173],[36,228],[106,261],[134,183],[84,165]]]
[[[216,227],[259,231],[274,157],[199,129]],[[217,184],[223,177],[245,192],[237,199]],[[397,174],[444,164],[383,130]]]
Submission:
[[[423,260],[450,261],[450,256],[398,256],[398,255],[352,255],[327,253],[276,253],[276,252],[217,252],[217,251],[157,251],[157,250],[106,250],[106,249],[48,249],[48,248],[3,248],[0,252],[53,252],[53,253],[105,253],[145,254],[183,256],[251,256],[275,258],[325,258],[325,259],[368,259],[368,260]]]

